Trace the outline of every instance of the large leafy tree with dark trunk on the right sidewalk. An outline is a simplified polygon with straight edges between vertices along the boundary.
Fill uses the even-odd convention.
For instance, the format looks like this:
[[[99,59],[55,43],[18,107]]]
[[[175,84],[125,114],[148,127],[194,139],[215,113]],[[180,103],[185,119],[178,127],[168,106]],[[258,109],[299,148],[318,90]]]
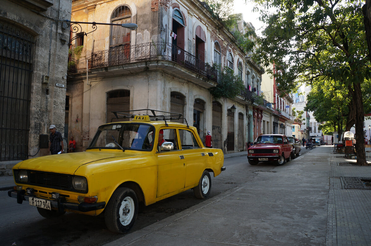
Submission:
[[[267,24],[260,40],[262,62],[274,70],[278,89],[296,91],[318,78],[348,89],[347,126],[355,123],[363,143],[364,107],[361,84],[371,78],[361,1],[254,0]],[[275,8],[275,13],[269,11]],[[357,164],[367,165],[364,144],[357,144]]]

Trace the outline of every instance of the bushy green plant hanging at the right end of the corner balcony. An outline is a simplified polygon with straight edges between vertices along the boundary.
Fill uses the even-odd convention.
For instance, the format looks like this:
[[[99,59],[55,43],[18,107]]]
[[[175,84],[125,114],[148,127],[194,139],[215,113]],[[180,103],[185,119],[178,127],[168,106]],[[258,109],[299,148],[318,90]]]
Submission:
[[[215,99],[226,97],[233,100],[244,88],[241,78],[234,74],[232,69],[225,66],[220,73],[219,83],[209,90]]]

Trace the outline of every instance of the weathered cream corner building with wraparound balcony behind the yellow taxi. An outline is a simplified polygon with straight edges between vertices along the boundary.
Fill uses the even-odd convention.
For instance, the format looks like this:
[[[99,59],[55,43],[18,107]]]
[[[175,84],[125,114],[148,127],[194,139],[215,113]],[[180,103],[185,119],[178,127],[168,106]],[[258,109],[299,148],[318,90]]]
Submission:
[[[264,70],[203,3],[76,0],[71,20],[138,24],[136,30],[101,24],[80,24],[73,30],[72,50],[83,49],[78,62],[70,58],[77,66],[68,77],[66,124],[78,150],[85,150],[100,124],[111,122],[114,110],[182,113],[201,139],[210,130],[213,147],[224,152],[244,150],[260,133],[258,117],[267,102],[250,99],[259,94]],[[238,25],[242,32],[248,27],[243,21]],[[216,100],[210,94],[220,73],[213,64],[230,67],[243,80],[246,89],[234,100]]]

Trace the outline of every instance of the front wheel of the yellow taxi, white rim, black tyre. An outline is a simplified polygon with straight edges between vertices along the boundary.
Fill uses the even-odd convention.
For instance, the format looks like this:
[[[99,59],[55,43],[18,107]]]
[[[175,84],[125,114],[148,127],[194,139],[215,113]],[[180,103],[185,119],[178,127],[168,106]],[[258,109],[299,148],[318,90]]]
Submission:
[[[109,199],[104,219],[108,230],[115,233],[125,233],[134,226],[137,214],[137,195],[132,189],[120,187]]]

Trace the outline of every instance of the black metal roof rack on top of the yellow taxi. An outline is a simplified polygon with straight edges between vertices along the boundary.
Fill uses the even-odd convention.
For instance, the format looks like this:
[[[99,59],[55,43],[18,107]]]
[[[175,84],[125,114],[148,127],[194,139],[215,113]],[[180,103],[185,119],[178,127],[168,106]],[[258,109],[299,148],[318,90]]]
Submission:
[[[140,114],[140,111],[146,111],[147,113]],[[151,114],[148,113],[151,112]],[[136,114],[135,112],[139,112],[139,114]],[[187,123],[187,127],[189,128],[188,122],[185,118],[183,118],[183,114],[180,113],[174,113],[174,112],[166,112],[166,111],[160,111],[160,110],[154,110],[154,109],[138,109],[138,110],[126,110],[126,111],[112,111],[114,113],[116,119],[134,119],[137,115],[148,115],[150,117],[150,120],[164,120],[165,125],[168,126],[167,120],[181,120],[184,119],[185,123]],[[165,115],[168,114],[168,115]],[[111,120],[112,122],[112,120]]]

